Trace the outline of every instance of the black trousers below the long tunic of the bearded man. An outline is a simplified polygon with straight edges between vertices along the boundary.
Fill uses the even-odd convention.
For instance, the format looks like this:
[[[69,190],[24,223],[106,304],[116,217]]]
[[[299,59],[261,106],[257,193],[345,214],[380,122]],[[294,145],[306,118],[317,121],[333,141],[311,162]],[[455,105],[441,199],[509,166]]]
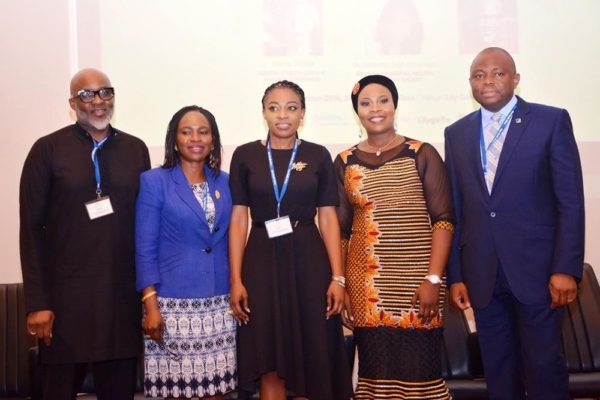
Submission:
[[[91,365],[98,400],[131,400],[135,395],[137,358],[90,364],[43,364],[44,400],[74,400]]]

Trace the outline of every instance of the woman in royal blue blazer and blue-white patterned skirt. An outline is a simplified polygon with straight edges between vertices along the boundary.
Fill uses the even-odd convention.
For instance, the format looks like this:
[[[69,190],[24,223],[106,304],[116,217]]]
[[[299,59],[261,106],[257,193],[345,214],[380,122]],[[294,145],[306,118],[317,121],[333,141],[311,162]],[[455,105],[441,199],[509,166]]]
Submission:
[[[184,107],[169,123],[162,167],[141,176],[136,281],[145,310],[148,397],[222,399],[236,386],[231,195],[221,153],[214,116]]]

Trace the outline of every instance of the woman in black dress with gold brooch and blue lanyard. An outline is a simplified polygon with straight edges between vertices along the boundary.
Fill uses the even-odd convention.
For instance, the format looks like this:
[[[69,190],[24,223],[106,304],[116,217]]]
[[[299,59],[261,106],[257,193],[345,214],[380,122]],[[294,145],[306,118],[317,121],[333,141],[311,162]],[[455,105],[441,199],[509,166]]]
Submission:
[[[345,280],[331,156],[298,139],[305,111],[298,85],[274,83],[262,105],[267,139],[238,147],[230,169],[239,385],[260,382],[266,400],[285,399],[286,392],[297,399],[348,399],[352,387],[338,315]]]

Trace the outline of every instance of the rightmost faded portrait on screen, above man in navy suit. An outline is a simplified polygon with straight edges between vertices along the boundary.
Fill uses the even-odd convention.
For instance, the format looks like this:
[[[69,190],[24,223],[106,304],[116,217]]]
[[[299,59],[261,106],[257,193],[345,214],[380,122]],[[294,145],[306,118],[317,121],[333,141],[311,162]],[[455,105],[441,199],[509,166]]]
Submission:
[[[458,37],[461,54],[501,46],[518,51],[517,0],[458,0]]]

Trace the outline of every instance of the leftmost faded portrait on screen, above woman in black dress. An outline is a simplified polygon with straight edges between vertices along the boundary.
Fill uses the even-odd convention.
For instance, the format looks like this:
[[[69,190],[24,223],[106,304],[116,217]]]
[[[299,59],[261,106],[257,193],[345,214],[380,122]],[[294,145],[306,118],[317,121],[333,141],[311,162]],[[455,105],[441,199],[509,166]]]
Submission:
[[[264,0],[264,55],[322,55],[323,24],[321,1]]]

